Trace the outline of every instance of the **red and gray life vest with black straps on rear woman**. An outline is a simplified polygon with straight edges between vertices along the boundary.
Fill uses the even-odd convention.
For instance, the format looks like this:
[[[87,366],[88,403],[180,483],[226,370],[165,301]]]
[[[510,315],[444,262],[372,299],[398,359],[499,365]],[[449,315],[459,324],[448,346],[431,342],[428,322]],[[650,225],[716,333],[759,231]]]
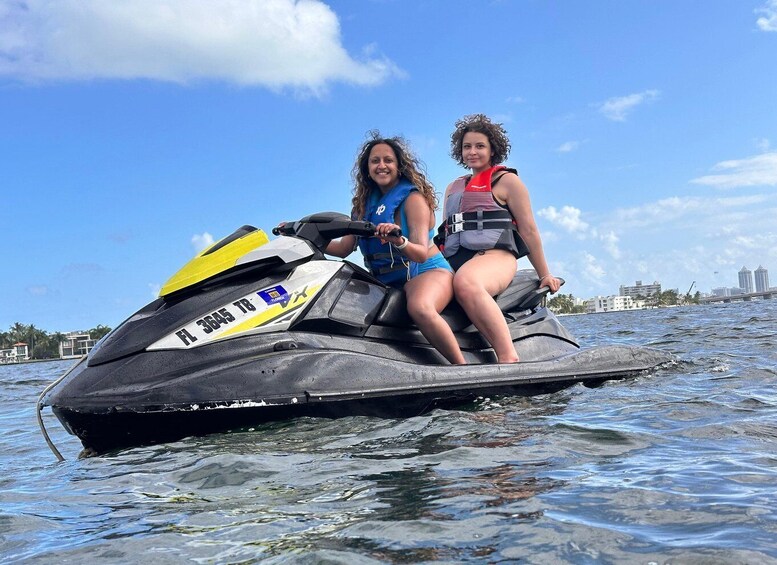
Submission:
[[[435,237],[445,257],[455,255],[461,247],[471,251],[505,249],[516,258],[529,254],[512,214],[494,200],[491,179],[497,171],[518,174],[497,165],[453,182],[443,206],[445,219]]]

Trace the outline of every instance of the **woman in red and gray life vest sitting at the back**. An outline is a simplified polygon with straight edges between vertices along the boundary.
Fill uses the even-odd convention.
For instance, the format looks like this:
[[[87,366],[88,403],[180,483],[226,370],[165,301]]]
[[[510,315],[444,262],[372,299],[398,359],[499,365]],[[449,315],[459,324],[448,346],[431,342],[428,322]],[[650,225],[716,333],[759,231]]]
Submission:
[[[453,291],[470,320],[494,348],[500,363],[515,363],[502,311],[494,297],[508,287],[517,259],[529,256],[540,286],[558,291],[534,221],[529,191],[515,169],[501,165],[510,153],[502,124],[483,114],[465,116],[451,135],[451,156],[470,175],[454,180],[445,191],[443,253],[455,271]]]

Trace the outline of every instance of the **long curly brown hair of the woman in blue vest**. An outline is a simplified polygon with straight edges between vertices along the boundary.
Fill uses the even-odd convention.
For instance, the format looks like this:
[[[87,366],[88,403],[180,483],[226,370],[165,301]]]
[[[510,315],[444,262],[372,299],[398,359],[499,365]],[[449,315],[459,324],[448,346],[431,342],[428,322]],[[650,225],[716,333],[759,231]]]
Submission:
[[[437,195],[434,186],[426,178],[423,163],[410,151],[407,141],[399,136],[381,137],[378,130],[367,132],[367,140],[359,149],[356,162],[353,165],[351,176],[353,177],[353,199],[351,204],[355,217],[363,218],[367,208],[367,200],[373,190],[380,190],[378,185],[370,177],[369,160],[370,151],[376,145],[385,144],[391,147],[397,157],[397,170],[399,178],[404,177],[426,199],[429,208],[437,209]]]

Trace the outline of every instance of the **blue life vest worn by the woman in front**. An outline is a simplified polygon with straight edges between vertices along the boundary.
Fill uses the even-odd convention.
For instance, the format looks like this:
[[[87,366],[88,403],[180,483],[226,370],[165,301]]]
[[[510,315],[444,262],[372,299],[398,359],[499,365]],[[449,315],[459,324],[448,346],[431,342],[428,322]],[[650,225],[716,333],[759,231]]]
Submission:
[[[375,225],[382,223],[395,223],[394,214],[397,208],[405,203],[405,200],[414,190],[418,190],[407,179],[400,179],[397,186],[388,193],[382,194],[379,190],[373,190],[367,200],[364,217],[359,218]],[[402,209],[402,231],[406,232],[404,225],[404,209]],[[405,237],[407,234],[405,233]],[[391,249],[388,243],[381,243],[378,237],[360,237],[359,250],[364,255],[364,264],[370,273],[384,284],[402,286],[408,279],[409,262],[402,257],[402,253]]]

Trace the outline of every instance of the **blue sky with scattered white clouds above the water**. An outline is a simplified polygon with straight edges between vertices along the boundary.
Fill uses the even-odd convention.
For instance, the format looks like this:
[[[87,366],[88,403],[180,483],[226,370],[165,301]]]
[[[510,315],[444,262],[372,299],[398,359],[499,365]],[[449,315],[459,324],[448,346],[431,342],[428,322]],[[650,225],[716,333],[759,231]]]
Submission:
[[[777,0],[0,0],[0,329],[114,327],[243,224],[348,212],[373,128],[442,193],[479,112],[562,292],[775,284]]]

